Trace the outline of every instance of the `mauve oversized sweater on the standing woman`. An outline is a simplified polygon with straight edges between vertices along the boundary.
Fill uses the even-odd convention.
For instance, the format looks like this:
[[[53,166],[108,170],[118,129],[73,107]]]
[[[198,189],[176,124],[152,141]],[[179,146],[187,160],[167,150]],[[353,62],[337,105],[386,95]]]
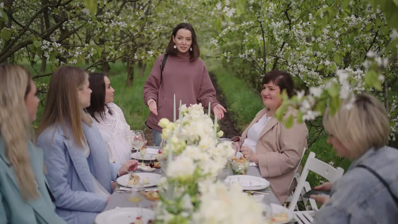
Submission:
[[[162,131],[158,126],[159,120],[168,118],[173,121],[173,97],[176,94],[176,118],[178,119],[179,101],[186,104],[202,103],[204,108],[211,103],[211,110],[220,104],[216,100],[216,90],[211,83],[205,63],[198,58],[189,61],[189,52],[179,53],[177,56],[168,55],[163,69],[162,86],[160,86],[160,73],[164,55],[160,55],[144,84],[144,102],[148,106],[151,98],[156,101],[158,116],[150,112],[146,125],[154,130]]]

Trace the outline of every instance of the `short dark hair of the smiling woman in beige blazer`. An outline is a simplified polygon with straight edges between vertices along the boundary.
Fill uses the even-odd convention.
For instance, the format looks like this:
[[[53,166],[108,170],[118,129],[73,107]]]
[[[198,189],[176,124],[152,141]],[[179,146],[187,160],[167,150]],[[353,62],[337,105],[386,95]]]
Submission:
[[[279,86],[279,88],[281,89],[281,93],[283,90],[286,90],[287,96],[289,96],[289,98],[293,96],[295,83],[289,73],[279,70],[272,70],[268,73],[265,73],[262,84],[264,85],[269,82],[272,82],[272,84]]]

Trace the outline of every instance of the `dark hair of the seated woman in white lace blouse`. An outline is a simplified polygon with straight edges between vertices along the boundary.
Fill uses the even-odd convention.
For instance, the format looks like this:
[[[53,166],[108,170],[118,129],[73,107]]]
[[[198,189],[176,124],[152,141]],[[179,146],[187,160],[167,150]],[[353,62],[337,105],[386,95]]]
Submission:
[[[90,106],[86,108],[87,112],[94,118],[97,122],[100,122],[95,114],[100,114],[102,120],[105,119],[105,81],[103,78],[106,75],[104,73],[90,73],[88,81],[90,83],[90,89],[93,91],[91,93]],[[113,114],[112,110],[108,107],[109,114]]]

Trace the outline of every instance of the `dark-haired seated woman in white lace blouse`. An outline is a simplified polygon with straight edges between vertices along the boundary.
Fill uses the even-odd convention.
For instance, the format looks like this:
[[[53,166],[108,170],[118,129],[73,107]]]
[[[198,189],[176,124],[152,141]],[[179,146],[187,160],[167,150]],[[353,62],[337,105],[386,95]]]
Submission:
[[[123,164],[130,159],[131,141],[135,135],[127,124],[123,111],[113,103],[115,90],[103,73],[90,73],[91,104],[86,110],[97,122],[108,149],[109,160]],[[145,141],[146,143],[146,141]]]

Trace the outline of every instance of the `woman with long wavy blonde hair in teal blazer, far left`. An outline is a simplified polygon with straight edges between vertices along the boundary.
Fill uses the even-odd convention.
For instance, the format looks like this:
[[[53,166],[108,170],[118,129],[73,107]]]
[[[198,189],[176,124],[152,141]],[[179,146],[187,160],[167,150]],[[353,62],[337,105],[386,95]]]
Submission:
[[[0,65],[0,80],[0,223],[65,223],[47,187],[43,151],[29,140],[36,86],[18,65]]]

